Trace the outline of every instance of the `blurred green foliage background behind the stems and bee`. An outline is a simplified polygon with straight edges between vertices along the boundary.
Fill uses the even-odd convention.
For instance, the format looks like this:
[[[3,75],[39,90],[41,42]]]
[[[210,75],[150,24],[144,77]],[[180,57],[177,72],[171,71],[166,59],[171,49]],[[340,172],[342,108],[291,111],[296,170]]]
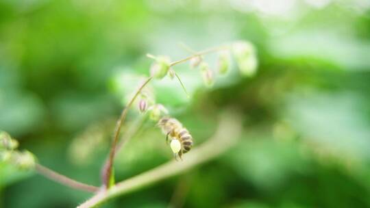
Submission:
[[[240,109],[240,143],[103,207],[370,207],[369,0],[1,0],[0,129],[41,164],[99,185],[114,120],[135,77],[148,75],[145,54],[178,60],[188,55],[179,42],[201,50],[234,40],[256,45],[256,77],[233,64],[206,89],[182,64],[190,99],[177,81],[153,87],[195,145],[225,107]],[[171,157],[147,121],[119,153],[116,179]],[[0,207],[75,207],[90,197],[32,172],[0,172]]]

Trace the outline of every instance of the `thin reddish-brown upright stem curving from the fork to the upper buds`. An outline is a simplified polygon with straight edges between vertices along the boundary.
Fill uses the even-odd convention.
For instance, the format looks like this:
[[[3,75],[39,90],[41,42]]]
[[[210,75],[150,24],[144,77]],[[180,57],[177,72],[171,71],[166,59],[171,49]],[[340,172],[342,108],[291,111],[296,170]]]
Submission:
[[[103,166],[103,172],[102,172],[103,185],[106,188],[109,188],[109,186],[110,186],[109,183],[110,183],[110,177],[112,175],[112,166],[113,166],[113,161],[114,161],[114,155],[116,153],[116,146],[117,146],[117,143],[118,143],[118,140],[119,140],[119,133],[121,131],[122,122],[125,120],[125,118],[127,116],[127,112],[130,109],[132,103],[134,103],[136,97],[140,94],[141,90],[143,90],[143,88],[145,86],[147,86],[147,83],[149,83],[149,81],[151,81],[151,79],[153,79],[153,77],[149,77],[140,86],[140,88],[138,88],[138,90],[136,91],[136,93],[132,97],[131,101],[123,109],[123,111],[121,113],[121,116],[119,117],[119,120],[117,120],[117,122],[116,122],[116,128],[114,130],[112,145],[110,146],[110,153],[109,153],[109,157],[108,157],[108,162],[106,162],[106,164]]]

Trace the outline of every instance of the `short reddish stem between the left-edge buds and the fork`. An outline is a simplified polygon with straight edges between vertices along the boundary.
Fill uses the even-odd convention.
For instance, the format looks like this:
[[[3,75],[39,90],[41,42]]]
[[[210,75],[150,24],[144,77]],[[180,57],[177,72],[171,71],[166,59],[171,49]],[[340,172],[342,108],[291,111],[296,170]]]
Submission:
[[[69,177],[65,177],[64,175],[59,174],[58,172],[50,170],[49,168],[42,166],[41,164],[36,164],[35,169],[38,173],[51,179],[52,181],[56,181],[62,185],[72,187],[76,190],[82,190],[85,192],[97,192],[99,190],[99,187],[75,181],[73,179],[70,179]]]

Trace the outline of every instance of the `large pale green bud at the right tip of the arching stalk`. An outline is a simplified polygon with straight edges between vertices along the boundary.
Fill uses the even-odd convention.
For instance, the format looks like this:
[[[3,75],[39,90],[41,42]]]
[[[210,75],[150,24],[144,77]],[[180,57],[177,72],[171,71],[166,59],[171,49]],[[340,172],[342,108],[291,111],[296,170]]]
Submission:
[[[251,77],[256,73],[258,60],[254,46],[250,42],[238,41],[233,44],[233,52],[240,73]]]

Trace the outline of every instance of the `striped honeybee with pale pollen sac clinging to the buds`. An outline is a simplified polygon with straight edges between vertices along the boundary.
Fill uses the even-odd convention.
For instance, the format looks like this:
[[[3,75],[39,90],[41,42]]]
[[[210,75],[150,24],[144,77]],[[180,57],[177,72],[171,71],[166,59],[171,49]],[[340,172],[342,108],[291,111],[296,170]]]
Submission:
[[[177,156],[182,159],[182,155],[190,151],[193,146],[193,137],[188,129],[182,126],[182,123],[175,118],[164,117],[158,121],[158,126],[166,134],[166,142],[169,143],[175,159]]]

